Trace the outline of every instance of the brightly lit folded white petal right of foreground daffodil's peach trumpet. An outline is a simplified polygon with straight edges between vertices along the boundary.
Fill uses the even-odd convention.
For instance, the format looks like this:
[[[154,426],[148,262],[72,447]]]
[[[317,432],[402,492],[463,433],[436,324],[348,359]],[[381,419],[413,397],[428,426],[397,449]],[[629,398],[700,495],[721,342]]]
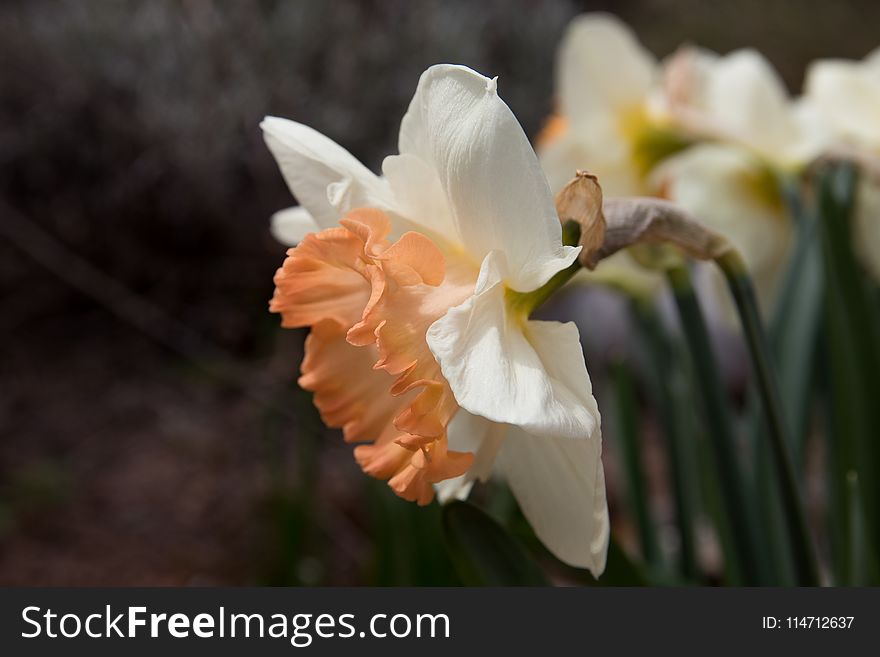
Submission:
[[[508,314],[492,259],[477,293],[428,329],[428,346],[456,401],[474,415],[540,436],[593,435],[599,412],[577,327]]]

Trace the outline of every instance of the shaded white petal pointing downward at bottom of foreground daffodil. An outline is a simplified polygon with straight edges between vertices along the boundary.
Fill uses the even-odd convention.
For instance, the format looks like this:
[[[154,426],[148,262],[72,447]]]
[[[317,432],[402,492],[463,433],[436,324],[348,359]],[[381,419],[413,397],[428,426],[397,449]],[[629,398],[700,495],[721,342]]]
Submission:
[[[599,428],[587,440],[511,428],[498,466],[538,538],[560,560],[605,570],[609,521]]]

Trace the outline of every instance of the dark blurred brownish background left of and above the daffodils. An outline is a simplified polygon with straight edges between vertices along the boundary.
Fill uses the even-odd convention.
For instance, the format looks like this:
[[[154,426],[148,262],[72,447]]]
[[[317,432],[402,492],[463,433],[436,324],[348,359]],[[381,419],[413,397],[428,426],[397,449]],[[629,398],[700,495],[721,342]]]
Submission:
[[[377,168],[455,62],[534,135],[598,9],[660,56],[755,46],[794,90],[880,43],[871,0],[4,2],[0,584],[454,582],[436,508],[368,481],[296,389],[303,333],[267,312],[292,200],[258,124]]]

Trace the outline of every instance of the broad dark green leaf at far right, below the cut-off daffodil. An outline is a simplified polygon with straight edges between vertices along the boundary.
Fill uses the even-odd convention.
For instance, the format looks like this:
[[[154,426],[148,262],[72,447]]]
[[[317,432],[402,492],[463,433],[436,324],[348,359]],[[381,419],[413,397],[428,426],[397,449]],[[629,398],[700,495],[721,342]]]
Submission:
[[[852,561],[859,535],[850,527],[852,508],[865,518],[863,535],[880,543],[877,478],[880,476],[880,317],[874,290],[852,249],[858,172],[849,164],[829,166],[818,177],[820,235],[825,265],[825,330],[831,431],[828,464],[832,555],[838,582],[855,579]],[[858,486],[848,485],[850,473]],[[860,500],[852,500],[858,495]]]

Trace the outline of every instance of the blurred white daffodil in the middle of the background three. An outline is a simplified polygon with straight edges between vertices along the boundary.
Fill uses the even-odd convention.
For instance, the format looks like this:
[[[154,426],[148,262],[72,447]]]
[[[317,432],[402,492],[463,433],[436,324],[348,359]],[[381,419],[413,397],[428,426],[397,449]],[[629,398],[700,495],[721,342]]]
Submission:
[[[659,194],[727,237],[742,254],[764,312],[774,303],[794,225],[782,187],[786,176],[824,148],[818,114],[794,101],[754,50],[718,56],[687,48],[667,67],[679,121],[706,141],[661,163],[651,174]],[[712,314],[736,324],[718,272]]]

